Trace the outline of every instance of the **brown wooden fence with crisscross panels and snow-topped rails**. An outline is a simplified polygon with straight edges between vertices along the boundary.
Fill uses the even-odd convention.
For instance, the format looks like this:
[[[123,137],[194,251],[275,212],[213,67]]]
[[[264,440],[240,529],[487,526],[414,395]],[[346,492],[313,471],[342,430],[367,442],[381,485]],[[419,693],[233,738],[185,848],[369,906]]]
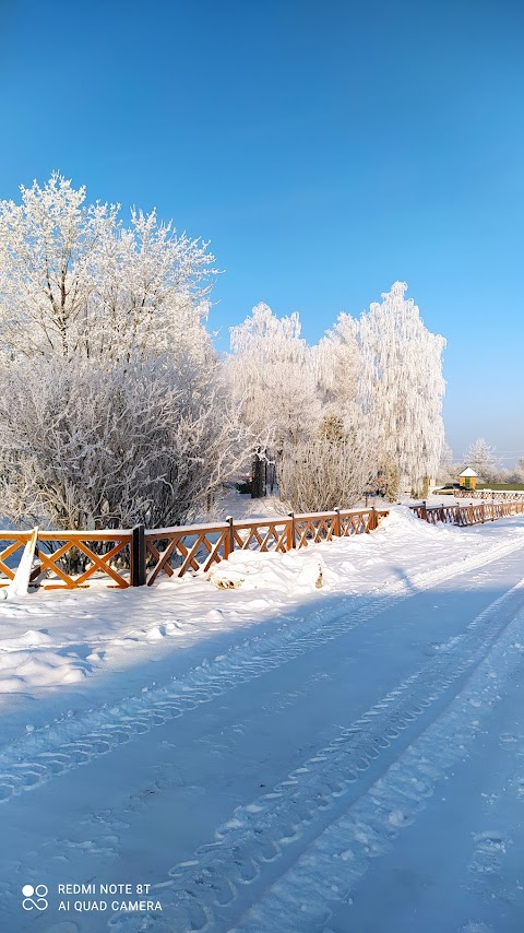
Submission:
[[[468,506],[410,506],[418,518],[458,525],[495,521],[524,512],[524,499],[471,503]],[[31,582],[43,589],[75,589],[94,578],[117,588],[152,586],[159,575],[182,577],[209,570],[233,551],[278,551],[308,547],[334,538],[373,531],[388,509],[335,509],[283,518],[146,530],[40,531]],[[31,531],[0,531],[0,587],[14,579],[16,564]],[[81,568],[79,572],[79,567]]]

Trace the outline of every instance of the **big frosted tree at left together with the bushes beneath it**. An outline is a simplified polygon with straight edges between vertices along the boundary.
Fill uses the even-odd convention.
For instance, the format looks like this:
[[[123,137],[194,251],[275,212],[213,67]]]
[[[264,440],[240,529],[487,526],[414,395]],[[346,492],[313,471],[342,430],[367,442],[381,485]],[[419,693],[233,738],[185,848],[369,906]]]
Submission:
[[[53,174],[0,202],[3,513],[187,520],[250,449],[205,329],[214,259]]]

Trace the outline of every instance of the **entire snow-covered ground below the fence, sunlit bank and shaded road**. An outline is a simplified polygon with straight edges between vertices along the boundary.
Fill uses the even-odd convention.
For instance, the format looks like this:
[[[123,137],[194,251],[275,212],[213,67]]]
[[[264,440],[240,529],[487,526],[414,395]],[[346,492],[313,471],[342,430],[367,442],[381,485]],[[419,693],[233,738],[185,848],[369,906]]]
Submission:
[[[524,929],[523,568],[524,517],[401,508],[0,603],[0,929]]]

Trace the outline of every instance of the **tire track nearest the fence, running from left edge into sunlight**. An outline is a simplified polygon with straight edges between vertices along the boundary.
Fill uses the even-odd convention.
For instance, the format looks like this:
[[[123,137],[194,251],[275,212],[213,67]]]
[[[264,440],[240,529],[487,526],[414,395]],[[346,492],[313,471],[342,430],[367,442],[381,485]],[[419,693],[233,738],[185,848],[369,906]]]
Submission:
[[[60,773],[88,764],[119,745],[139,739],[156,725],[164,725],[202,704],[211,702],[236,686],[314,651],[401,600],[484,567],[522,546],[521,540],[504,541],[481,555],[461,562],[458,566],[453,562],[414,575],[409,582],[395,581],[384,587],[378,597],[342,598],[342,609],[329,611],[321,607],[307,618],[281,627],[274,635],[245,639],[240,645],[231,646],[226,654],[204,662],[168,685],[144,688],[139,695],[115,706],[29,732],[0,752],[0,804]]]

